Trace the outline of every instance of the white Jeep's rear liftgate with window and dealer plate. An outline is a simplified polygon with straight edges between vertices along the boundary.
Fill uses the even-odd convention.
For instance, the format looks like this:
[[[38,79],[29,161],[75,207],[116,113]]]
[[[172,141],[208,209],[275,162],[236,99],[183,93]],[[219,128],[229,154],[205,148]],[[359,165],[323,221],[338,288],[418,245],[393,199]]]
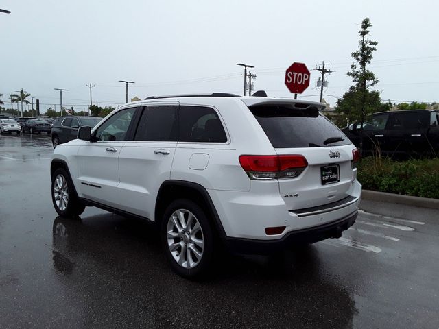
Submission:
[[[355,146],[329,119],[307,104],[264,104],[250,110],[279,155],[302,155],[308,165],[294,178],[280,178],[289,210],[321,206],[348,197],[354,180]]]

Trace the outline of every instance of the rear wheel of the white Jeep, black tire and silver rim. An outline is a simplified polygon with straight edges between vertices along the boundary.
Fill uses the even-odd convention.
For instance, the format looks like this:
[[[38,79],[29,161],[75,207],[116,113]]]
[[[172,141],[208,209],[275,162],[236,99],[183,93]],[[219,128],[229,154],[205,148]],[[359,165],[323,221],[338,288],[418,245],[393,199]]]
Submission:
[[[202,208],[178,199],[166,209],[161,223],[165,254],[176,273],[185,278],[204,275],[213,258],[213,232]]]

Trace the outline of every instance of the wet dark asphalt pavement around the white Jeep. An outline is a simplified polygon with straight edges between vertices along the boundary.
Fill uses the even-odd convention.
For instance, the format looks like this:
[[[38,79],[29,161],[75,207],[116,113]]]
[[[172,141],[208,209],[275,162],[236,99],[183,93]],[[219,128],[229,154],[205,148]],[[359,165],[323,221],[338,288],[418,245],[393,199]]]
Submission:
[[[57,217],[52,151],[0,136],[0,328],[439,328],[438,210],[363,202],[341,239],[191,282],[146,223]]]

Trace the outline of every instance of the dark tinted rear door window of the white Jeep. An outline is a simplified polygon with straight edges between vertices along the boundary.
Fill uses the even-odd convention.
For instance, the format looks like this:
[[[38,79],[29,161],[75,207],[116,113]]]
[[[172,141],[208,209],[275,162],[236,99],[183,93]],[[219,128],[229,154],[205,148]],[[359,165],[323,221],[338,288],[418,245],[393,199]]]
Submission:
[[[178,136],[178,106],[146,106],[134,141],[175,142]]]

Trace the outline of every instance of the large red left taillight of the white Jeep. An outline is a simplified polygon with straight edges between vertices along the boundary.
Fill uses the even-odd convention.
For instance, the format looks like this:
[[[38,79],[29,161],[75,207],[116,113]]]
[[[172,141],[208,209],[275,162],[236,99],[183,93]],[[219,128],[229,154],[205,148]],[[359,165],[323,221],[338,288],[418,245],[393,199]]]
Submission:
[[[305,156],[239,156],[239,163],[252,180],[295,178],[308,165]]]

